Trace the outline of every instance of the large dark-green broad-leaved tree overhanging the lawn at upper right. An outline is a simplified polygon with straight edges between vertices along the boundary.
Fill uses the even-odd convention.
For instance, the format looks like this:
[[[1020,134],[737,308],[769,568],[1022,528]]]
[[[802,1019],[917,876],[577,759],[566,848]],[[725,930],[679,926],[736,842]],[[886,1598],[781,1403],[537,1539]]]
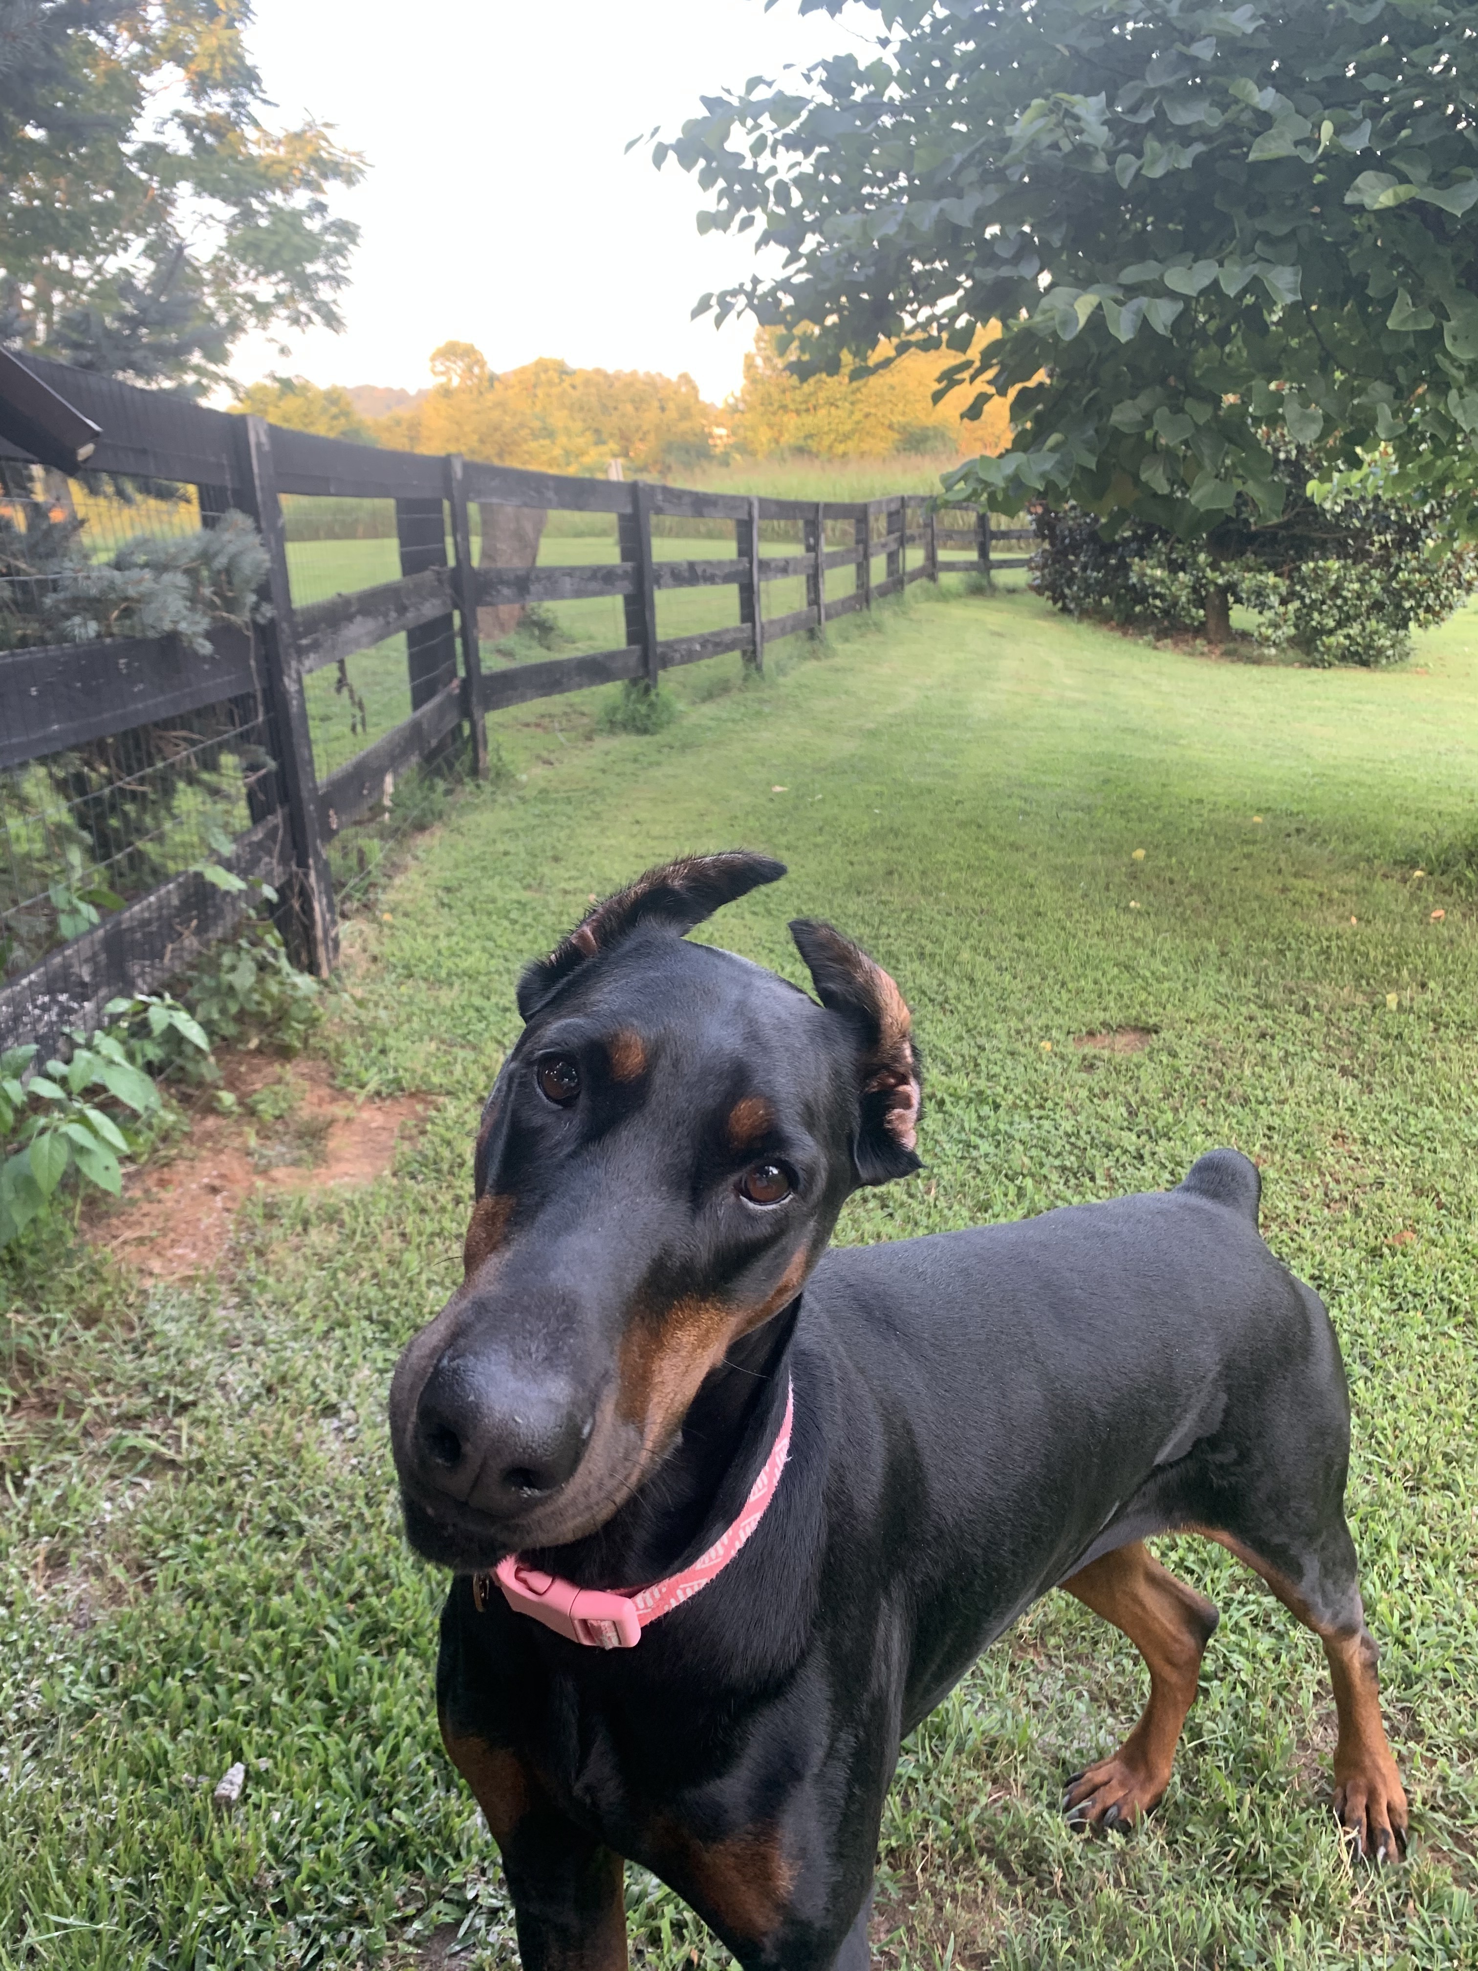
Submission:
[[[1015,438],[960,487],[1182,536],[1283,509],[1279,447],[1478,530],[1478,6],[865,0],[875,59],[707,99],[670,154],[784,270],[798,374],[952,357]],[[802,0],[840,14],[843,0]],[[974,355],[981,327],[1003,327]],[[1041,373],[1041,380],[1031,378]]]

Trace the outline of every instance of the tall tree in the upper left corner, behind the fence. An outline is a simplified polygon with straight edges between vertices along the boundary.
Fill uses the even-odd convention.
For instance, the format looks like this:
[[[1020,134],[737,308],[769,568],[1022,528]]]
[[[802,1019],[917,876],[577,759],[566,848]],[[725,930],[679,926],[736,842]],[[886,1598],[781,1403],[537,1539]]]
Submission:
[[[341,327],[361,160],[270,130],[248,0],[0,0],[0,337],[205,386],[248,329]]]

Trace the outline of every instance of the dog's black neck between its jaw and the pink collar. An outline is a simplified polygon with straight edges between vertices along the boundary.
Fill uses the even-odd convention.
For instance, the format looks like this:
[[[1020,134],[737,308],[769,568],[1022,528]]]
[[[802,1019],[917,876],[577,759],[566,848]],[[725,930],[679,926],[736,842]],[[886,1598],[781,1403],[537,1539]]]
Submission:
[[[692,1565],[739,1518],[784,1415],[800,1295],[704,1382],[652,1476],[595,1533],[526,1559],[587,1589],[648,1587]]]

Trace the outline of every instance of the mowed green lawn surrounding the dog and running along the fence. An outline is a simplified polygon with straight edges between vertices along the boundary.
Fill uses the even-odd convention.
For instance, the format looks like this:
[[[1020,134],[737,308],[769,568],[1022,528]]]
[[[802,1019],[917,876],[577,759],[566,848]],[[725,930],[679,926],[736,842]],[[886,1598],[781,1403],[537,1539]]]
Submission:
[[[731,844],[790,877],[700,934],[800,978],[784,920],[830,917],[916,1013],[928,1163],[841,1240],[1173,1185],[1216,1143],[1259,1159],[1265,1234],[1346,1352],[1348,1506],[1415,1803],[1413,1863],[1352,1869],[1314,1640],[1220,1549],[1165,1541],[1222,1628],[1163,1809],[1127,1843],[1064,1829],[1062,1776],[1145,1679],[1048,1597],[905,1748],[879,1961],[1478,1963],[1478,918],[1413,875],[1472,828],[1478,623],[1364,676],[912,591],[737,678],[682,674],[650,739],[593,737],[585,700],[499,721],[508,781],[349,928],[339,1078],[436,1098],[392,1177],[262,1204],[191,1289],[61,1252],[14,1281],[6,1971],[361,1965],[447,1918],[512,1961],[436,1738],[441,1581],[400,1543],[384,1390],[459,1275],[518,964],[591,891]],[[1139,1053],[1076,1045],[1125,1027]],[[209,1788],[235,1758],[227,1819]],[[629,1904],[638,1963],[723,1961],[635,1870]]]

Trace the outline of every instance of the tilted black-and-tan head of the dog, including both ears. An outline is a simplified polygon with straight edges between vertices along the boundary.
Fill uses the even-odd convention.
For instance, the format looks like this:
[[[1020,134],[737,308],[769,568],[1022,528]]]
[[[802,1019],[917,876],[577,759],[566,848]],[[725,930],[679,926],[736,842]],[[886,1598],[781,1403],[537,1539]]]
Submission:
[[[390,1392],[430,1559],[491,1567],[603,1526],[727,1350],[796,1299],[847,1194],[918,1169],[918,1053],[881,966],[794,922],[818,1005],[684,938],[780,875],[739,851],[652,869],[524,972],[465,1279]]]

